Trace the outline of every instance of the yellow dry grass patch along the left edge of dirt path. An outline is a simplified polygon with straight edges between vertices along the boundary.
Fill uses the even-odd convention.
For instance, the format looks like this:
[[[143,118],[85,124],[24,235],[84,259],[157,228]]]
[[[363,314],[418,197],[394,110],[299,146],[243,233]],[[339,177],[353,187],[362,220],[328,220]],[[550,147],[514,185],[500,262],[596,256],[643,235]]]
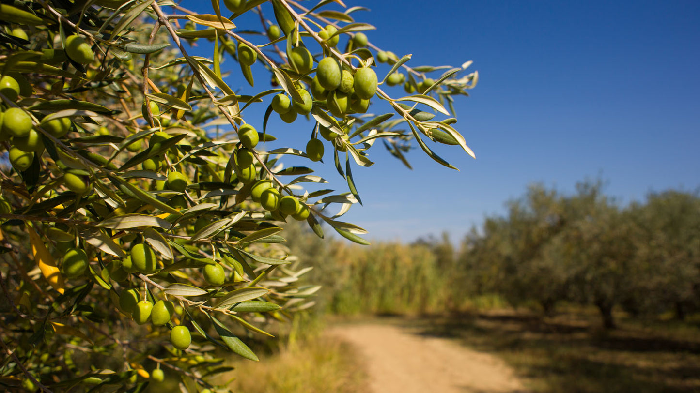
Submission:
[[[234,392],[367,392],[363,365],[353,348],[323,334],[288,344],[260,362],[240,360],[233,366]]]

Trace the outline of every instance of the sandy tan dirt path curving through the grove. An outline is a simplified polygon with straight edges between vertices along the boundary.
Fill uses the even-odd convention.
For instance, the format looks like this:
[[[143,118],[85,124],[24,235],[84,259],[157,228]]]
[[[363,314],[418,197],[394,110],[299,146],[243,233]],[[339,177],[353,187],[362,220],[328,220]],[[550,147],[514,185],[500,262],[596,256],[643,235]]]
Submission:
[[[526,392],[500,359],[445,338],[384,324],[343,325],[330,334],[358,348],[374,393]]]

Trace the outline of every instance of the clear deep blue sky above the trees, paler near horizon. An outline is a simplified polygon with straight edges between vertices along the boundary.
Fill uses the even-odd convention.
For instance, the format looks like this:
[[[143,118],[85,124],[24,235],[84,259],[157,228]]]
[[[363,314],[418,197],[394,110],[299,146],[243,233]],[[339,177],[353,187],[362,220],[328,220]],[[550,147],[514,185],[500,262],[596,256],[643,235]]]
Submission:
[[[456,102],[456,128],[476,160],[436,145],[458,172],[416,148],[408,156],[414,166],[409,171],[376,146],[370,158],[377,164],[353,167],[365,206],[354,206],[344,220],[369,230],[367,238],[412,241],[449,231],[461,241],[472,224],[503,213],[503,203],[533,182],[572,192],[577,181],[600,175],[609,182],[608,194],[622,203],[651,190],[700,186],[700,2],[346,5],[371,8],[353,14],[377,26],[367,32],[370,41],[398,55],[412,53],[411,65],[473,60],[470,69],[479,71],[471,97]],[[235,22],[244,27],[244,20]],[[263,75],[256,87],[258,80],[265,85]],[[240,87],[244,94],[252,91]],[[267,103],[260,113],[251,110],[248,122],[262,127]],[[311,124],[270,124],[276,136],[298,137],[282,142],[304,148]],[[328,169],[318,173],[346,191],[328,156],[326,162]]]

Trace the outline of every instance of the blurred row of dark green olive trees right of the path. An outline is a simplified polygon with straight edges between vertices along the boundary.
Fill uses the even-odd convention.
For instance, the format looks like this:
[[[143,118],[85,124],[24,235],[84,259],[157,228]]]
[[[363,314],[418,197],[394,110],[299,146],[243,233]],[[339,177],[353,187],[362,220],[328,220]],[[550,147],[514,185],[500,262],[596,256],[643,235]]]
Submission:
[[[607,328],[613,309],[633,316],[700,310],[700,197],[669,190],[619,206],[587,181],[562,194],[531,185],[465,237],[457,264],[471,294],[595,306]]]

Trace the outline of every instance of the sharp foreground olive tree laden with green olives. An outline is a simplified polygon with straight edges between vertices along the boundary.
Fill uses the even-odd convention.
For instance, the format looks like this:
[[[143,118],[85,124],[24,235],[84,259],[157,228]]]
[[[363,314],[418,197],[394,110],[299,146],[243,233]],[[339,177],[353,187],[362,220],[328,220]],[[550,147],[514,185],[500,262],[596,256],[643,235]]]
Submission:
[[[360,202],[353,166],[372,166],[374,142],[407,165],[414,143],[452,168],[431,143],[473,156],[450,117],[477,82],[470,62],[409,66],[342,1],[198,6],[0,4],[3,389],[139,391],[167,376],[218,389],[218,348],[257,360],[248,344],[270,321],[313,305],[283,222],[367,243],[339,217]],[[237,26],[248,13],[259,24]],[[308,124],[304,151],[265,148],[273,115]],[[346,191],[302,187],[324,187],[311,174],[324,159]]]

